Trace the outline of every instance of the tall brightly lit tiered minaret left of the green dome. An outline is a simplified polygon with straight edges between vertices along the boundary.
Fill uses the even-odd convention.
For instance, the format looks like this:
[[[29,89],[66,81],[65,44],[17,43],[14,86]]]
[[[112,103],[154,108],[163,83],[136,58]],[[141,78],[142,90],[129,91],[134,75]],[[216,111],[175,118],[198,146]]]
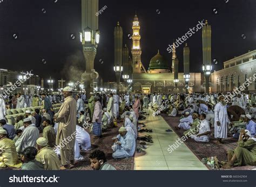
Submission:
[[[140,25],[137,15],[134,17],[132,30],[132,69],[133,73],[141,73],[142,62],[140,56],[142,55],[142,49],[140,48]]]

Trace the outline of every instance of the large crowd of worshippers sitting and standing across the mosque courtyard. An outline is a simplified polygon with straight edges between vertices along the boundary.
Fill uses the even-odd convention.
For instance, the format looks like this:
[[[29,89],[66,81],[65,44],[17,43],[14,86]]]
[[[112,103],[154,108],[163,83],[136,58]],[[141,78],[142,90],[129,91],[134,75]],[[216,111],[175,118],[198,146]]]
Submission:
[[[62,103],[55,114],[52,105]],[[16,124],[7,124],[6,110],[42,106],[35,113],[27,110],[18,116]],[[176,129],[197,142],[209,142],[214,134],[218,144],[227,136],[238,140],[238,147],[227,153],[223,168],[234,165],[256,165],[254,94],[228,97],[213,94],[75,94],[70,87],[61,95],[40,94],[0,97],[0,167],[24,170],[65,170],[84,160],[80,154],[91,149],[91,138],[102,138],[117,122],[124,124],[112,138],[114,159],[132,157],[136,150],[138,120],[142,113],[166,113],[174,117],[181,113]],[[214,131],[211,127],[214,126]],[[93,136],[93,137],[92,137]],[[88,152],[89,154],[89,152]],[[113,170],[102,150],[89,155],[92,169]]]

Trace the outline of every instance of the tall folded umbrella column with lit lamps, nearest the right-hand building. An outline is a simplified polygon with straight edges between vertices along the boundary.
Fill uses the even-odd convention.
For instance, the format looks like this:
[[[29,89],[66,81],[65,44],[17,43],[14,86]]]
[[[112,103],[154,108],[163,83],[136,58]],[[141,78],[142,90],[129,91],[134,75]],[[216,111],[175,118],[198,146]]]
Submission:
[[[211,37],[212,29],[211,25],[208,25],[206,20],[205,25],[203,26],[203,71],[205,75],[205,93],[209,93],[209,81],[212,71],[212,47],[211,47]]]

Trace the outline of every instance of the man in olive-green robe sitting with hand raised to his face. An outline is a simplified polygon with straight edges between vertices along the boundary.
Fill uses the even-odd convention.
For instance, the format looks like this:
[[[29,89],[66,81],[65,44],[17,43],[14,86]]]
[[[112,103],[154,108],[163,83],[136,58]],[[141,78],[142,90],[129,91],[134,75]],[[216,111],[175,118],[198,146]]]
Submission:
[[[251,136],[249,130],[241,130],[241,139],[237,142],[237,148],[227,151],[228,163],[224,164],[223,168],[256,165],[256,138]]]

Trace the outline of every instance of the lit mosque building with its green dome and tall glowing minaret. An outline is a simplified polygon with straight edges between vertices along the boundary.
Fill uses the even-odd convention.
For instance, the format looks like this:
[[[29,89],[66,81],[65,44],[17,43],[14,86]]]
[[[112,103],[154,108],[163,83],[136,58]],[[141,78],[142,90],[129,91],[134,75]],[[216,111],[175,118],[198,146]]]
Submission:
[[[142,60],[140,58],[142,49],[140,47],[140,25],[137,15],[133,21],[133,45],[132,45],[132,91],[135,93],[186,93],[186,82],[184,73],[179,73],[178,67],[174,66],[176,57],[175,46],[172,49],[172,66],[164,56],[158,53],[150,60],[148,70],[145,69]],[[185,49],[186,48],[186,49]],[[189,51],[188,46],[184,47]],[[184,53],[185,54],[185,53]],[[189,53],[188,53],[189,56]],[[189,57],[188,57],[189,59]],[[170,65],[169,65],[170,64]],[[178,65],[178,64],[177,64]],[[189,68],[189,62],[188,62]],[[177,71],[177,75],[174,76],[174,72]],[[175,77],[175,78],[174,78]],[[174,82],[178,77],[178,82]],[[203,73],[190,73],[190,80],[188,82],[187,91],[192,92],[204,92],[204,74]]]

